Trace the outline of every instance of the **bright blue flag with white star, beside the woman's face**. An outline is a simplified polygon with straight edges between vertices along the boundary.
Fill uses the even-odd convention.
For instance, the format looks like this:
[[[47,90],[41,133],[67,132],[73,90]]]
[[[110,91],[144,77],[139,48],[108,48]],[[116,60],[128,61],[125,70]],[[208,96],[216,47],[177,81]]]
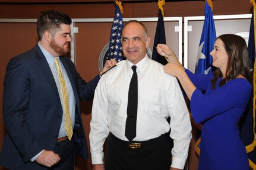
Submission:
[[[211,1],[207,0],[204,9],[204,26],[198,48],[197,63],[195,66],[195,73],[197,74],[208,74],[213,72],[213,68],[211,67],[213,60],[210,56],[210,52],[213,50],[213,46],[216,41],[216,31],[213,13],[211,11],[211,3]]]

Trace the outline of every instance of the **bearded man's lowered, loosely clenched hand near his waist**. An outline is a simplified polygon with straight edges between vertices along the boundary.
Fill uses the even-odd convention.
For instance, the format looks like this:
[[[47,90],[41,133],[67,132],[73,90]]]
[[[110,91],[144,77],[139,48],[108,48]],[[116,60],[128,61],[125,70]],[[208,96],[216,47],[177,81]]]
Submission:
[[[52,165],[55,165],[59,162],[61,158],[59,155],[52,150],[44,150],[37,158],[36,162],[40,163],[42,165],[45,165],[47,167],[51,167]]]

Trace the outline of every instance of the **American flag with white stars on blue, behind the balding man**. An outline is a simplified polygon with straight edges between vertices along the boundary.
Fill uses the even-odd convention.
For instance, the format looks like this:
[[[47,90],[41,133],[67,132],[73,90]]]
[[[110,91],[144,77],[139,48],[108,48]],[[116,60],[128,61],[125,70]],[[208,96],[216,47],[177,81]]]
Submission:
[[[122,52],[122,41],[121,34],[124,28],[122,13],[119,8],[121,6],[121,1],[116,1],[115,7],[115,17],[113,20],[110,41],[109,41],[109,58],[107,59],[115,59],[116,62],[123,60],[123,52]],[[121,6],[122,7],[122,6]]]

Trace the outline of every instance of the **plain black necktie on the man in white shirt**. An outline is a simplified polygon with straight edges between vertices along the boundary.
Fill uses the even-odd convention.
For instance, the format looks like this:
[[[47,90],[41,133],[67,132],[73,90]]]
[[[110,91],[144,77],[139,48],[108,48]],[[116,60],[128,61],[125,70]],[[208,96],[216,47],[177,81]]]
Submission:
[[[136,121],[138,108],[138,77],[136,66],[131,67],[133,75],[129,84],[128,105],[127,105],[127,121],[125,124],[125,136],[129,141],[136,136]]]

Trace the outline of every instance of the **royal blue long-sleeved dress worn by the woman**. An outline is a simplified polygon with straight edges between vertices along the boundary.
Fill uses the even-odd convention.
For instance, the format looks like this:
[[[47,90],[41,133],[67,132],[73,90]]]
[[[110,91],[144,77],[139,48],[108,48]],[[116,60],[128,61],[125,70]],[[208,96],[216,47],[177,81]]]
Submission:
[[[248,170],[245,146],[239,137],[238,121],[251,95],[251,84],[244,78],[228,81],[222,87],[218,79],[211,89],[209,75],[185,70],[197,89],[191,97],[191,114],[202,124],[198,170]],[[201,90],[206,91],[202,94]]]

